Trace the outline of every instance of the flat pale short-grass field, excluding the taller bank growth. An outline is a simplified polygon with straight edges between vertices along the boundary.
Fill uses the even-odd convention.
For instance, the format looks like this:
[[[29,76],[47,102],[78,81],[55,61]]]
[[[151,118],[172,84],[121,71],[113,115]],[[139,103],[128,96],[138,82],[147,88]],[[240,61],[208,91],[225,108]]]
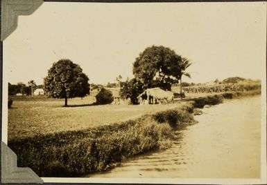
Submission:
[[[92,106],[94,94],[83,99],[69,99],[69,107],[63,106],[62,99],[38,96],[12,99],[12,108],[8,109],[8,140],[103,126],[186,104]]]

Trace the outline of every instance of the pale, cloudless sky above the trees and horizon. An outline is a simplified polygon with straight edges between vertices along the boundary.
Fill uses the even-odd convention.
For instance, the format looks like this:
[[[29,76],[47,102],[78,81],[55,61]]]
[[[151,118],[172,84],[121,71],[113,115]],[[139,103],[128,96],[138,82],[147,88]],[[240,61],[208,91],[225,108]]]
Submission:
[[[261,79],[266,61],[266,4],[45,2],[19,16],[3,41],[8,81],[42,84],[53,62],[71,59],[89,83],[133,77],[132,63],[148,46],[166,46],[193,63],[191,79]]]

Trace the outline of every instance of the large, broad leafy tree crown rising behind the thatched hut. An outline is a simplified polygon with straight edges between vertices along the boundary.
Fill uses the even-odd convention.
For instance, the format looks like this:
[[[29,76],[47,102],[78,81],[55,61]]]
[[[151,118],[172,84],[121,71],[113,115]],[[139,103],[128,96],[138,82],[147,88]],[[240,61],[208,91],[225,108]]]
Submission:
[[[144,88],[160,87],[171,90],[180,79],[182,57],[164,46],[151,46],[141,52],[133,63],[133,74]]]

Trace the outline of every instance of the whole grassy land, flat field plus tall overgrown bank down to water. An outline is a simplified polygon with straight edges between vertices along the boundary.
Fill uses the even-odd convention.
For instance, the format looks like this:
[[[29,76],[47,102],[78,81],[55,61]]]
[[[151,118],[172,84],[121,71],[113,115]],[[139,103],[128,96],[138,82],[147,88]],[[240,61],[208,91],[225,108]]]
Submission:
[[[260,93],[195,93],[172,104],[146,106],[94,106],[94,95],[70,99],[69,107],[59,99],[13,97],[8,146],[17,154],[18,166],[41,177],[78,177],[171,147],[173,129],[196,123],[194,108]]]

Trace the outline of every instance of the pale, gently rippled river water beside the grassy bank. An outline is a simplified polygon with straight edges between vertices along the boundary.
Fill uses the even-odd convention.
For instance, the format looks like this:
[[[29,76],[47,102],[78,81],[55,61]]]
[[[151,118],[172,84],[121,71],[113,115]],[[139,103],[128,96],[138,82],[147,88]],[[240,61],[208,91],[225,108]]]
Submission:
[[[260,97],[233,99],[202,110],[203,115],[195,116],[198,124],[176,133],[180,139],[171,148],[88,177],[260,177]]]

